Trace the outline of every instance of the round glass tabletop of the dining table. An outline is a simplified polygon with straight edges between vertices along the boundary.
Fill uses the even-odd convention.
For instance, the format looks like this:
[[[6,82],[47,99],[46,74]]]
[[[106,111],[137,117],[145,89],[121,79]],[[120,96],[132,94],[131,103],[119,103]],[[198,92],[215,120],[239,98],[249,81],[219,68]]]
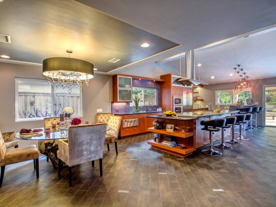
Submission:
[[[58,139],[66,139],[68,138],[68,132],[64,131],[63,133],[59,132],[58,129],[52,129],[49,134],[44,133],[44,128],[42,132],[34,135],[20,135],[19,132],[15,133],[14,137],[21,140],[58,140]],[[106,126],[106,132],[109,131],[111,128]],[[53,131],[54,130],[54,131]]]

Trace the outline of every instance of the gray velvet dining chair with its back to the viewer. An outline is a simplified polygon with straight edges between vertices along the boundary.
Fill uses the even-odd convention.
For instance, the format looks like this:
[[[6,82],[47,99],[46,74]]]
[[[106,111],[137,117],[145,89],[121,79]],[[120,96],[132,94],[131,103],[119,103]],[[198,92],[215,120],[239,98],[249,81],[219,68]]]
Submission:
[[[72,167],[94,160],[100,161],[102,176],[102,152],[105,140],[106,123],[75,125],[68,128],[68,142],[58,140],[58,176],[61,175],[61,161],[69,168],[69,186],[72,186]]]

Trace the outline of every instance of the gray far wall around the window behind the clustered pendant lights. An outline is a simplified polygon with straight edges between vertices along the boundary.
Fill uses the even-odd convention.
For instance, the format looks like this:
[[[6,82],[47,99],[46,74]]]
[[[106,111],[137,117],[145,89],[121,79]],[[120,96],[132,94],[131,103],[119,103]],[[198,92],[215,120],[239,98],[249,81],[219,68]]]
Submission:
[[[263,91],[262,91],[263,85],[269,85],[269,84],[275,84],[275,83],[276,83],[276,78],[248,81],[248,87],[251,87],[251,90],[252,90],[251,93],[252,93],[253,104],[255,104],[255,102],[258,102],[258,105],[262,106],[263,105]],[[209,103],[213,103],[214,107],[216,108],[217,105],[215,105],[215,90],[231,89],[231,88],[235,88],[235,82],[204,86],[199,89],[199,95],[201,96],[201,98],[204,99],[204,101],[199,102],[199,104],[205,106],[205,105],[208,105]],[[223,107],[223,105],[220,105],[220,107]],[[261,114],[258,114],[257,121],[258,121],[258,125],[262,125]]]

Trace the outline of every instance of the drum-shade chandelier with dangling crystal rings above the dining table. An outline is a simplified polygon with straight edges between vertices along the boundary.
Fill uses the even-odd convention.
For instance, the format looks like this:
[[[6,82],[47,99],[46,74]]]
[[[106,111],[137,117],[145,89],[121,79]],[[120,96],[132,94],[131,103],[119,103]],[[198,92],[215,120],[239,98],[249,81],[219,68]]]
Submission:
[[[47,76],[49,84],[56,83],[57,88],[68,88],[71,94],[73,87],[81,89],[82,81],[85,80],[86,87],[89,79],[94,77],[94,65],[84,60],[70,58],[72,50],[66,50],[69,58],[53,57],[43,60],[43,75]]]

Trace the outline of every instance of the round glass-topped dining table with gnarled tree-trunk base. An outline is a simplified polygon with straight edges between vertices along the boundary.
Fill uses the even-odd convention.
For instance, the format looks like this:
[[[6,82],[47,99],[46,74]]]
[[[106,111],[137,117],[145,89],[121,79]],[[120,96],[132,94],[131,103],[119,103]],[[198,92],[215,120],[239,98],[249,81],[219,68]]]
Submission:
[[[37,140],[38,148],[41,154],[46,155],[52,162],[54,168],[58,167],[58,158],[57,151],[59,149],[57,140],[63,140],[65,142],[68,141],[68,131],[60,132],[59,128],[50,128],[50,133],[45,133],[44,128],[36,128],[42,129],[41,132],[30,133],[28,134],[20,134],[20,132],[15,133],[14,137],[20,140]],[[107,125],[106,132],[111,128]],[[45,148],[44,148],[45,147]],[[43,150],[44,148],[44,150]],[[64,162],[62,162],[63,166],[66,166]]]

